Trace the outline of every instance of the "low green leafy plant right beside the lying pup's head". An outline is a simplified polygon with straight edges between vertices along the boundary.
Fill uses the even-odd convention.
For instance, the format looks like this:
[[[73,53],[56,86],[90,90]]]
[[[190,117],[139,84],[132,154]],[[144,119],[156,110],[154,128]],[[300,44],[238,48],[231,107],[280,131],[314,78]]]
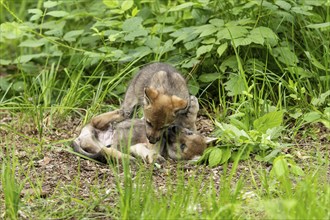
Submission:
[[[231,124],[215,122],[215,135],[218,138],[217,146],[207,149],[199,162],[207,161],[210,166],[223,164],[237,157],[240,159],[257,154],[255,159],[271,162],[285,146],[278,141],[283,127],[283,112],[269,112],[253,121],[253,129],[247,130],[239,120],[232,118]]]

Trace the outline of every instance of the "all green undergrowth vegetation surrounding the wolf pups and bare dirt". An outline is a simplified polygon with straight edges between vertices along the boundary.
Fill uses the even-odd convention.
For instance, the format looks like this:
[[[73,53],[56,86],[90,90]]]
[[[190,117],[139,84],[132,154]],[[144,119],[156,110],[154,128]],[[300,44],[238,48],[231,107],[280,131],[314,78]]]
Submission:
[[[112,218],[329,218],[329,1],[0,0],[0,8],[0,120],[18,115],[16,125],[32,123],[37,133],[27,137],[2,121],[0,131],[26,138],[42,154],[52,145],[47,129],[117,108],[137,69],[161,61],[182,72],[200,114],[214,122],[218,141],[197,163],[225,172],[221,189],[211,176],[186,181],[178,174],[162,195],[153,171],[141,168],[132,180],[127,168],[111,210],[102,204],[109,193],[92,189],[104,196],[73,199],[72,208],[87,212],[66,210],[73,201],[57,191],[63,210],[39,204],[38,213],[28,208],[31,198],[19,204],[15,170],[24,167],[18,145],[1,137],[0,200],[8,218],[20,207],[41,218],[79,218],[97,212],[89,204]],[[316,151],[308,155],[311,167],[297,163],[306,145]],[[272,164],[270,172],[247,168],[251,198],[242,198],[243,179],[233,181],[243,160]]]

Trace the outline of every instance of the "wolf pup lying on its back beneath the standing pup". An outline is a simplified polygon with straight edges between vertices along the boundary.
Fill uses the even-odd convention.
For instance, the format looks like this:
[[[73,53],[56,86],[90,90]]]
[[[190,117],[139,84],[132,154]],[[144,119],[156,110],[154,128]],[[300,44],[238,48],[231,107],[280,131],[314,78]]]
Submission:
[[[195,124],[195,115],[198,111],[198,102],[192,98],[190,107],[191,123]],[[145,121],[141,119],[127,119],[117,123],[120,119],[120,110],[107,113],[105,117],[98,116],[100,120],[106,120],[107,126],[102,130],[93,127],[92,123],[86,125],[72,145],[74,151],[89,158],[106,163],[107,159],[129,158],[129,154],[140,157],[146,163],[152,163],[157,159],[169,157],[174,160],[192,160],[199,157],[205,148],[207,139],[189,129],[179,126],[171,126],[163,133],[161,141],[155,147],[149,147],[149,141],[145,130]],[[124,153],[127,152],[127,153]]]

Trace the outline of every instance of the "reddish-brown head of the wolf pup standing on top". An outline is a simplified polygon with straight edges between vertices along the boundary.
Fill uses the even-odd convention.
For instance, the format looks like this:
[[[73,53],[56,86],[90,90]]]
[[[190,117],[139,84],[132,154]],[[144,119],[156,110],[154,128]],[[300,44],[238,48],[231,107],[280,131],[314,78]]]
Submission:
[[[145,88],[144,93],[147,138],[150,143],[155,144],[163,131],[174,122],[176,113],[187,107],[188,101],[175,95],[162,94],[154,88]]]

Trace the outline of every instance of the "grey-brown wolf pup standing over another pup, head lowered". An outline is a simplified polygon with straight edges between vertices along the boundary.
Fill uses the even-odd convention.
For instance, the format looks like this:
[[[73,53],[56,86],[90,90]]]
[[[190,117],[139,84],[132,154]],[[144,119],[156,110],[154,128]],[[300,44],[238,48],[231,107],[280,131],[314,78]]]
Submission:
[[[152,144],[170,125],[196,130],[195,123],[187,117],[190,95],[186,81],[168,64],[149,64],[137,73],[126,91],[118,121],[128,119],[136,106],[143,106],[146,136]],[[111,112],[101,114],[91,124],[104,130],[111,117]]]

